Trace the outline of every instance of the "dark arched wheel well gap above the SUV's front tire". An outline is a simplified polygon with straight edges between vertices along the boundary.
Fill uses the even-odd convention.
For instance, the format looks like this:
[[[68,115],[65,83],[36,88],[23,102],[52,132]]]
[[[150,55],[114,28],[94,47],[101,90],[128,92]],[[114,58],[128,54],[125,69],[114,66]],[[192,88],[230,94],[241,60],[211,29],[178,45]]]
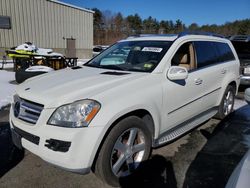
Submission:
[[[124,114],[123,116],[119,117],[117,120],[115,120],[112,125],[108,128],[108,130],[106,131],[104,137],[102,138],[102,141],[98,147],[98,150],[95,154],[95,159],[93,161],[93,164],[92,164],[92,171],[95,172],[95,163],[96,163],[96,160],[98,158],[98,155],[99,155],[99,152],[102,148],[102,145],[106,139],[106,137],[108,136],[109,132],[111,131],[111,129],[117,125],[117,123],[119,123],[121,120],[129,117],[129,116],[137,116],[139,118],[141,118],[144,123],[146,124],[146,126],[149,128],[150,132],[152,133],[152,139],[154,137],[154,132],[155,132],[155,128],[154,128],[154,121],[153,121],[153,118],[151,116],[151,114],[147,111],[147,110],[144,110],[144,109],[139,109],[139,110],[135,110],[135,111],[132,111],[132,112],[129,112],[127,114]]]

